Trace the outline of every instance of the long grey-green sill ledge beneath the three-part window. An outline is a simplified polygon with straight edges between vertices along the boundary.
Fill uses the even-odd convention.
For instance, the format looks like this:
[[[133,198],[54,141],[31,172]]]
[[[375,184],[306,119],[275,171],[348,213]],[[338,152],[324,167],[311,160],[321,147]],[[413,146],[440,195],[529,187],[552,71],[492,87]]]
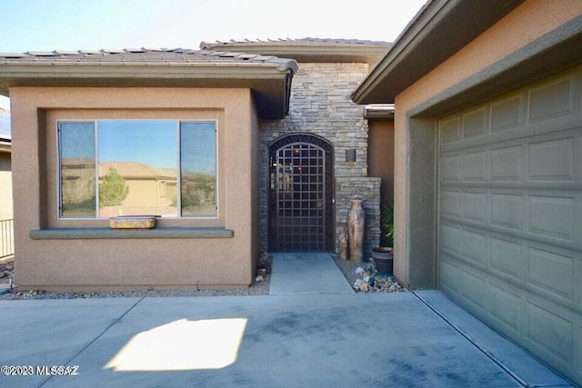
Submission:
[[[232,238],[235,232],[226,228],[110,229],[110,228],[48,228],[32,230],[33,240],[93,240],[150,238]]]

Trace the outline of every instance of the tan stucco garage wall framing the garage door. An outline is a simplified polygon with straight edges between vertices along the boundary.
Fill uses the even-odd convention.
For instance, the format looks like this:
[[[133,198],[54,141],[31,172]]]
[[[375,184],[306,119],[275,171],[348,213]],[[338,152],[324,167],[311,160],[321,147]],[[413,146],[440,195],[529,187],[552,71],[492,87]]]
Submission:
[[[434,179],[427,180],[424,184],[419,182],[411,184],[415,179],[414,174],[416,174],[411,166],[416,165],[418,170],[424,169],[425,171],[432,168],[433,172],[428,171],[427,175],[432,174],[434,177],[435,161],[431,154],[434,156],[434,129],[436,126],[427,119],[410,120],[409,111],[417,105],[425,103],[431,97],[446,91],[449,87],[463,82],[469,76],[476,75],[479,71],[496,64],[507,55],[511,55],[519,48],[535,41],[559,25],[567,23],[581,13],[582,3],[577,1],[527,1],[485,33],[479,35],[445,63],[437,66],[431,73],[396,96],[394,271],[396,278],[402,283],[411,284],[413,287],[434,287],[436,285],[434,281],[427,281],[426,278],[423,278],[426,274],[418,272],[418,266],[423,267],[423,273],[436,271],[434,264],[426,262],[426,260],[433,260],[426,258],[426,253],[430,249],[427,247],[423,250],[426,252],[419,251],[420,254],[411,253],[414,244],[418,244],[418,237],[422,238],[422,233],[434,233],[434,225],[426,225],[425,230],[419,234],[416,234],[416,231],[411,227],[411,219],[421,211],[420,208],[416,208],[417,206],[411,206],[411,200],[415,196],[420,197],[423,190],[426,191],[426,195],[433,193],[431,194],[432,200],[428,198],[433,202],[431,204],[433,207],[429,211],[434,213],[435,210]],[[412,141],[414,131],[416,131],[415,142]],[[411,154],[415,152],[418,157],[411,157]],[[425,258],[420,256],[425,256]],[[428,256],[434,257],[434,251],[428,252]],[[434,275],[431,278],[435,279]]]

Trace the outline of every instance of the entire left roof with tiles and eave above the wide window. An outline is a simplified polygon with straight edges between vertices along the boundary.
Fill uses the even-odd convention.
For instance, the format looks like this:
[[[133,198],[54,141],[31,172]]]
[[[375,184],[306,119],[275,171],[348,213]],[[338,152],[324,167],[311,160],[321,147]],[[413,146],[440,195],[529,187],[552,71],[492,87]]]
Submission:
[[[253,91],[259,117],[285,117],[296,60],[233,51],[141,47],[0,53],[0,95],[8,95],[11,87],[245,88]]]

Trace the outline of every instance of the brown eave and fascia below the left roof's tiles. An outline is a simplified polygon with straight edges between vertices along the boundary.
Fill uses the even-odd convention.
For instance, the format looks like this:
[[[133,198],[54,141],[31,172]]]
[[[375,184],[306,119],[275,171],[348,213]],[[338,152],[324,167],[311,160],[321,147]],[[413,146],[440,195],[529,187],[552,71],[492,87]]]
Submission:
[[[205,87],[248,88],[263,119],[288,114],[297,64],[3,64],[0,95],[11,87]]]

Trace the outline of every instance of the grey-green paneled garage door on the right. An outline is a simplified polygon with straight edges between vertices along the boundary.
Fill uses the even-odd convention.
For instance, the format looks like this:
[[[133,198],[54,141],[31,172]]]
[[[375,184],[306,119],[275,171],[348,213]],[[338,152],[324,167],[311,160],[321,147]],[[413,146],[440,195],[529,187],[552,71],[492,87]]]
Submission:
[[[582,382],[582,68],[439,121],[438,282]]]

